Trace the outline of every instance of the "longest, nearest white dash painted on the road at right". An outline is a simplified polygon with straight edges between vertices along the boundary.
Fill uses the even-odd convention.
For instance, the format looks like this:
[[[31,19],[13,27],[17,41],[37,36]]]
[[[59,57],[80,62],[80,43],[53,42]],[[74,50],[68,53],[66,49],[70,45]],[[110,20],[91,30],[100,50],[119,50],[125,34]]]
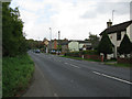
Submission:
[[[109,75],[106,75],[106,74],[101,74],[101,73],[98,73],[98,72],[92,72],[92,73],[94,73],[94,74],[97,74],[97,75],[100,75],[100,76],[105,76],[105,77],[107,77],[107,78],[116,79],[116,80],[118,80],[118,81],[122,81],[122,82],[132,85],[131,81],[128,81],[128,80],[124,80],[124,79],[121,79],[121,78],[117,78],[117,77],[109,76]]]

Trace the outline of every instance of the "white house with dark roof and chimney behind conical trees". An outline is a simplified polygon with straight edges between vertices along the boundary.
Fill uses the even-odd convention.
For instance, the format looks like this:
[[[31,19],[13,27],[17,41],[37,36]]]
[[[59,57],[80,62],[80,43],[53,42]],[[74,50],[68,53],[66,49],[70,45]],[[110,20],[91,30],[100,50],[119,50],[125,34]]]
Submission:
[[[132,42],[132,20],[116,25],[112,25],[112,22],[109,21],[107,22],[107,25],[108,28],[100,33],[100,36],[102,36],[102,33],[108,33],[111,43],[114,45],[113,57],[117,58],[118,47],[120,46],[124,34],[128,34],[130,41]]]

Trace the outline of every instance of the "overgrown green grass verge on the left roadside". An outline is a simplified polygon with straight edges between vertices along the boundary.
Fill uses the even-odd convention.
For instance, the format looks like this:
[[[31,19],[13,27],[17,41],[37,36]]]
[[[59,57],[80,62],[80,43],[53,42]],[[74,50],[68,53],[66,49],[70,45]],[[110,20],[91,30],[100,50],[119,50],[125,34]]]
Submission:
[[[34,63],[26,55],[2,58],[2,96],[14,97],[24,91],[33,76]]]

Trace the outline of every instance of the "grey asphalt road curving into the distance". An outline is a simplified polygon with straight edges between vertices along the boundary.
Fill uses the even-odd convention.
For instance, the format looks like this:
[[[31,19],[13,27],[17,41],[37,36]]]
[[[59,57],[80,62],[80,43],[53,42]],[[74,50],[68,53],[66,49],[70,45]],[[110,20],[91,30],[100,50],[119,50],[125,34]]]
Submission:
[[[36,75],[23,97],[130,97],[130,69],[29,52]]]

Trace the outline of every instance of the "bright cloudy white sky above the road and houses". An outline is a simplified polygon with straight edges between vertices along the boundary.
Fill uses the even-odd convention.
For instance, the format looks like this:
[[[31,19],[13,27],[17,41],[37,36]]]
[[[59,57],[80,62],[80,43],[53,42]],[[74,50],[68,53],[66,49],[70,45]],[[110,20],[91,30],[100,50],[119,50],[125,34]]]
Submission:
[[[61,38],[85,40],[89,32],[99,35],[107,28],[112,10],[112,25],[129,21],[131,1],[12,0],[11,8],[19,7],[28,40],[58,38],[58,31]]]

